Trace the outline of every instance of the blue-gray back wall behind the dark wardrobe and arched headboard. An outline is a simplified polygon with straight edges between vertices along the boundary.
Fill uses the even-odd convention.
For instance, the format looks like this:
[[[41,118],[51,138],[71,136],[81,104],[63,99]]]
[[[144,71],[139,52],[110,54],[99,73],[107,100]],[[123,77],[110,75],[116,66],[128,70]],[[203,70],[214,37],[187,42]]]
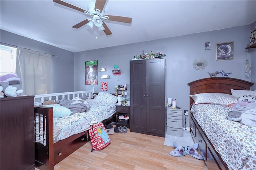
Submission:
[[[224,70],[231,72],[230,77],[251,81],[244,74],[244,65],[247,59],[247,50],[250,34],[250,25],[216,30],[174,38],[166,38],[149,42],[133,43],[108,47],[90,51],[77,52],[74,55],[75,90],[89,90],[95,87],[100,92],[101,82],[108,82],[108,92],[114,93],[117,84],[128,84],[129,91],[129,61],[142,50],[156,53],[157,50],[166,54],[167,80],[166,97],[176,98],[176,105],[183,110],[189,110],[188,83],[197,79],[209,77],[209,73]],[[205,51],[205,42],[212,44],[211,51]],[[234,42],[234,59],[216,61],[216,43]],[[249,54],[249,59],[251,53]],[[253,56],[255,59],[255,56]],[[208,66],[203,70],[196,70],[192,63],[194,59],[204,58]],[[85,85],[85,61],[98,60],[98,67],[106,67],[107,72],[98,72],[98,85]],[[121,69],[121,75],[112,75],[114,65]],[[255,64],[252,65],[255,70]],[[110,79],[100,79],[102,74],[110,75]],[[218,74],[218,77],[221,77]],[[255,89],[255,88],[254,88]],[[187,127],[189,121],[187,119]]]

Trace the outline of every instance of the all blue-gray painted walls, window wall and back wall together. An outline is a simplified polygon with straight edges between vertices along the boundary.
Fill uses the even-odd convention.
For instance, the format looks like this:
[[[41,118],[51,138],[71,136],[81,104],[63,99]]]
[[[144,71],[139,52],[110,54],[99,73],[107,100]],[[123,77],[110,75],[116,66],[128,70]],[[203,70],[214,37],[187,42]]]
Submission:
[[[1,42],[33,49],[44,53],[57,55],[52,57],[52,93],[88,90],[95,87],[100,92],[101,82],[108,82],[108,92],[114,93],[114,86],[127,83],[130,89],[129,62],[142,50],[156,53],[157,50],[166,54],[167,80],[166,98],[176,98],[177,106],[189,110],[188,83],[197,79],[209,77],[208,73],[224,70],[232,72],[230,77],[244,79],[255,83],[256,48],[249,49],[249,60],[252,63],[252,76],[244,75],[244,65],[247,59],[246,45],[249,43],[250,32],[254,30],[256,22],[235,28],[216,30],[174,38],[120,45],[90,51],[73,53],[46,43],[41,43],[4,30],[0,30]],[[205,42],[211,42],[212,50],[205,51]],[[216,43],[234,42],[234,59],[216,61]],[[204,58],[208,66],[203,70],[196,70],[192,63],[194,59]],[[106,72],[98,72],[98,85],[85,85],[85,61],[98,60],[98,68],[106,67]],[[114,65],[118,65],[122,74],[112,75]],[[100,79],[108,74],[110,79]],[[218,77],[221,75],[219,74]],[[254,85],[252,90],[255,90]],[[187,127],[189,127],[187,119]]]

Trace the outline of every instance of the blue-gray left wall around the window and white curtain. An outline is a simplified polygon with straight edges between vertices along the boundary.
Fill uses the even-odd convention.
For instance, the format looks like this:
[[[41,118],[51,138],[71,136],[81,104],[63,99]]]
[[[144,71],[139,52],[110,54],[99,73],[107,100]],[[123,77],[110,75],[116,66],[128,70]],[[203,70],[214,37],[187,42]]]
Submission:
[[[40,51],[52,57],[52,93],[74,91],[74,53],[46,43],[0,30],[1,43]]]

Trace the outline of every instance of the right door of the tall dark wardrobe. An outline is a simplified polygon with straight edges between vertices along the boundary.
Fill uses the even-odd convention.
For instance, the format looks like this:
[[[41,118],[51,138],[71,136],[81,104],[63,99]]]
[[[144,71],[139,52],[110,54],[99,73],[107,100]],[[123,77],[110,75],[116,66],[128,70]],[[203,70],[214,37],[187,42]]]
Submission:
[[[147,131],[165,136],[165,60],[147,60]]]

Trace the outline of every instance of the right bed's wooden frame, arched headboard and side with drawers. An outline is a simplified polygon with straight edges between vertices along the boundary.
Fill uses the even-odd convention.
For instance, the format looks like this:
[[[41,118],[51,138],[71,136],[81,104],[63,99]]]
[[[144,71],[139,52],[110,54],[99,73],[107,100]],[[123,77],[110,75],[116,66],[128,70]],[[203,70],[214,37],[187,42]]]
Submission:
[[[188,83],[190,86],[190,95],[198,93],[227,93],[231,94],[230,89],[236,90],[250,90],[254,83],[244,81],[241,79],[234,79],[229,77],[211,77],[192,81]],[[190,97],[190,107],[192,106],[193,99]],[[220,154],[216,152],[211,141],[208,139],[204,130],[198,125],[194,116],[190,113],[190,133],[200,146],[200,152],[205,157],[205,163],[208,170],[227,169],[228,166],[222,160]]]

